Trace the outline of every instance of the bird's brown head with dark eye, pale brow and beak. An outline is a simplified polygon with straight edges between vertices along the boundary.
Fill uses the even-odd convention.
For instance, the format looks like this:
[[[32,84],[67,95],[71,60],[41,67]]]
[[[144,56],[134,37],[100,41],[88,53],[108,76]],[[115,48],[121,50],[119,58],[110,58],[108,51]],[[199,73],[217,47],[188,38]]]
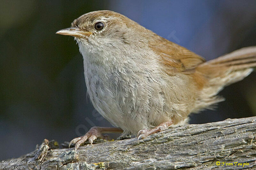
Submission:
[[[109,50],[127,47],[127,44],[141,43],[143,39],[140,33],[145,30],[146,28],[119,13],[93,11],[75,19],[70,28],[56,33],[74,36],[80,48],[83,46]]]

